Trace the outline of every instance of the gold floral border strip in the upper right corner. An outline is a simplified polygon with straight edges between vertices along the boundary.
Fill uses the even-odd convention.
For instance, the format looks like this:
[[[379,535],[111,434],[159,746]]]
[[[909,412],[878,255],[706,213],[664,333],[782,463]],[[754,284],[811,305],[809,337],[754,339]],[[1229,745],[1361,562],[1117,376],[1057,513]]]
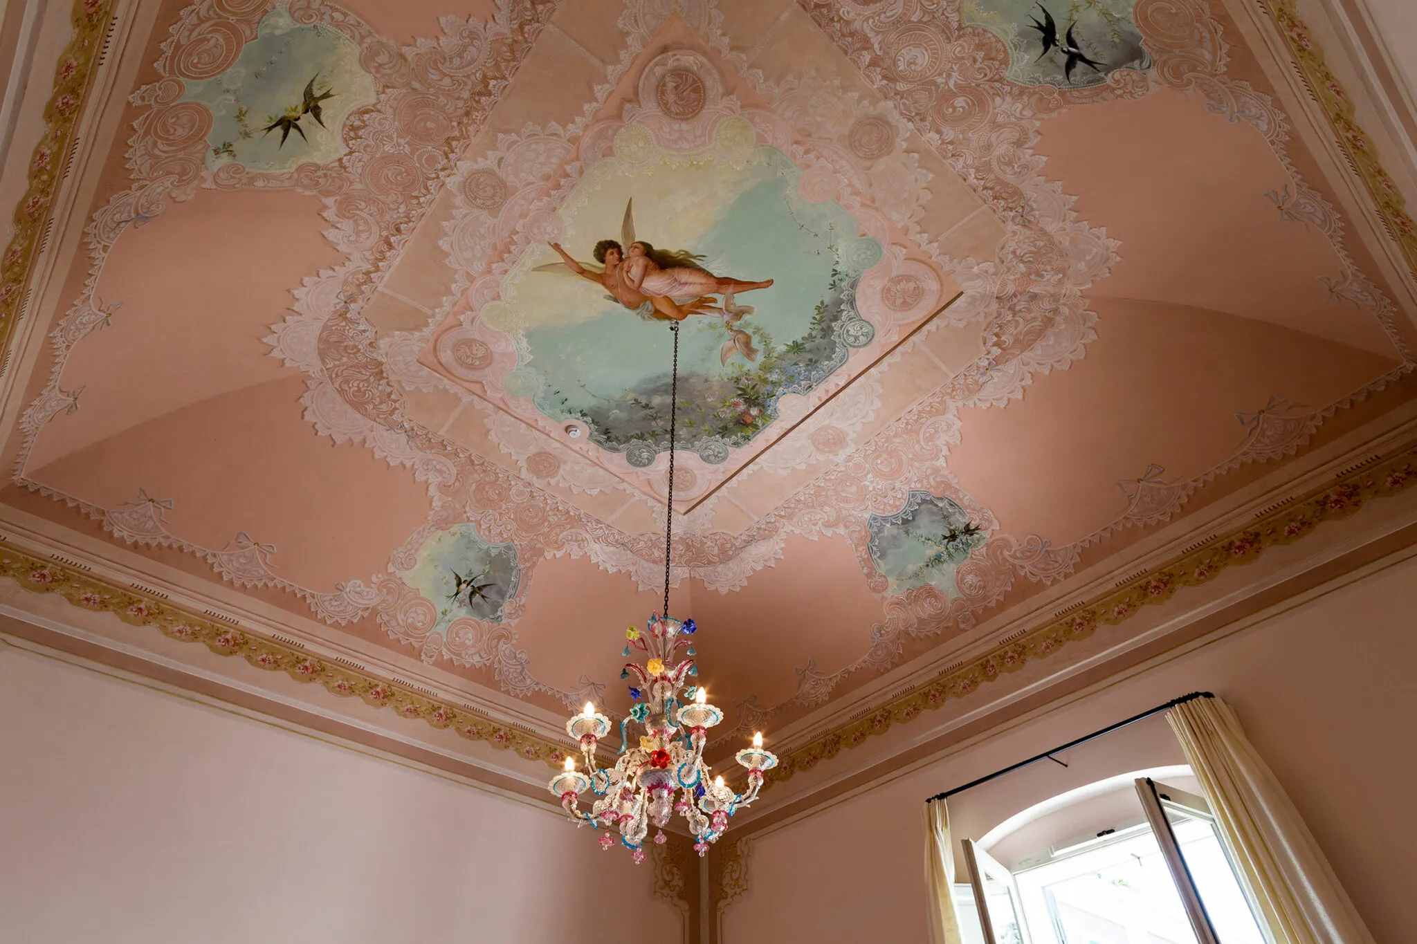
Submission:
[[[1308,86],[1309,95],[1323,109],[1338,146],[1348,159],[1349,168],[1363,181],[1367,195],[1377,208],[1383,229],[1401,249],[1413,276],[1417,276],[1417,225],[1407,212],[1407,204],[1397,184],[1383,170],[1377,146],[1357,123],[1353,99],[1329,71],[1323,50],[1299,17],[1295,0],[1267,0],[1257,4],[1278,27],[1294,65]]]

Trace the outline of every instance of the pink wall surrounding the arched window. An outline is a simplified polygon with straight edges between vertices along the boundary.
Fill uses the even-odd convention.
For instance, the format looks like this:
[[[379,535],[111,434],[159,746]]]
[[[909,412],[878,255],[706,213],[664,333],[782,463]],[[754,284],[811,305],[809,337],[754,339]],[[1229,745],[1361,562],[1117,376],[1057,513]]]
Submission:
[[[1229,701],[1379,941],[1417,927],[1417,558],[995,733],[755,839],[726,944],[927,941],[922,800],[1176,695]],[[961,836],[1107,776],[1183,763],[1139,723],[951,804]]]

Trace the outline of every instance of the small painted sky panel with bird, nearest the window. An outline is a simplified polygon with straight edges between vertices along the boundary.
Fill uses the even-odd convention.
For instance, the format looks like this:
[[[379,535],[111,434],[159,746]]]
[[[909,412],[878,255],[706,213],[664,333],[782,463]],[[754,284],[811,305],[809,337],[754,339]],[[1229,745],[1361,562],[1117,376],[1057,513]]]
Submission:
[[[866,526],[871,563],[893,593],[928,583],[949,599],[959,596],[955,569],[989,536],[958,504],[920,490],[910,491],[904,508],[871,515]]]

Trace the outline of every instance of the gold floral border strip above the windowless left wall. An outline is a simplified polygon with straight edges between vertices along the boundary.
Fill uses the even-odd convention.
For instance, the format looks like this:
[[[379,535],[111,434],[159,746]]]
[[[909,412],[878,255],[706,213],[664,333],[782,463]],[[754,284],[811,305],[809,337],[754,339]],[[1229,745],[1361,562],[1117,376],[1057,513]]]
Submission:
[[[58,593],[69,604],[91,613],[112,613],[130,626],[149,626],[173,640],[201,643],[217,655],[241,655],[255,668],[283,671],[298,682],[319,682],[332,695],[359,696],[367,705],[387,708],[402,718],[421,718],[434,727],[449,727],[468,740],[516,750],[527,760],[541,760],[555,767],[565,759],[563,744],[429,698],[408,685],[302,652],[299,644],[279,643],[251,630],[198,616],[163,601],[156,594],[126,590],[30,553],[10,541],[0,541],[0,576],[10,577],[34,593]]]

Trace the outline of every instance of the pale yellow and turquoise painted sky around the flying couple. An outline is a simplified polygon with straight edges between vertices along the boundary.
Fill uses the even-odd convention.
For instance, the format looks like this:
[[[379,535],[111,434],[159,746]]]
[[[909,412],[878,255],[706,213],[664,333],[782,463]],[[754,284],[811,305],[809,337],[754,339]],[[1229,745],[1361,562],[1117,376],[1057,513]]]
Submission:
[[[857,236],[856,221],[837,202],[808,202],[798,194],[801,171],[772,147],[747,161],[662,154],[653,163],[597,164],[563,205],[565,249],[591,260],[599,239],[619,239],[626,201],[633,198],[635,235],[662,249],[689,249],[718,276],[772,279],[743,293],[755,313],[741,327],[782,345],[803,337],[828,297],[833,267],[854,276],[880,260],[874,239]],[[530,385],[558,391],[570,409],[594,409],[667,378],[672,335],[663,321],[643,321],[608,300],[597,284],[567,275],[529,272],[554,262],[536,249],[509,276],[503,299],[521,328],[526,357],[519,371]],[[717,317],[690,316],[680,337],[680,376],[721,376],[728,338]],[[523,388],[526,389],[526,388]],[[560,418],[554,418],[560,419]]]

